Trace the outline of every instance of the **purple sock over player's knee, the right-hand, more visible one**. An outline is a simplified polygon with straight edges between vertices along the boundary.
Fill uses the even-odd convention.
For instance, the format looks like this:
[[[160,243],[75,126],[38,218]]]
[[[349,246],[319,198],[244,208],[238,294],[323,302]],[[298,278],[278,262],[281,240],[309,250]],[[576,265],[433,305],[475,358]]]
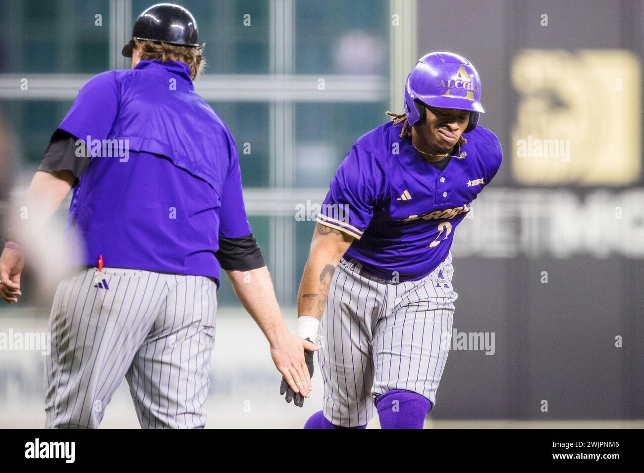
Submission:
[[[383,429],[422,429],[431,409],[427,398],[403,389],[381,394],[375,405]]]

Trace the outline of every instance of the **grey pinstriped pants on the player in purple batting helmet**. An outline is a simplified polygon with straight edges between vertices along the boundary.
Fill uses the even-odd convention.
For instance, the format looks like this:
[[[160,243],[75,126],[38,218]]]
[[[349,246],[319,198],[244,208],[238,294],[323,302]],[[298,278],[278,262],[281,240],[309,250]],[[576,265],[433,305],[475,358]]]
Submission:
[[[340,262],[319,329],[323,411],[331,423],[365,425],[374,399],[393,389],[435,405],[458,297],[452,275],[451,252],[431,274],[405,283],[367,274],[354,259]]]

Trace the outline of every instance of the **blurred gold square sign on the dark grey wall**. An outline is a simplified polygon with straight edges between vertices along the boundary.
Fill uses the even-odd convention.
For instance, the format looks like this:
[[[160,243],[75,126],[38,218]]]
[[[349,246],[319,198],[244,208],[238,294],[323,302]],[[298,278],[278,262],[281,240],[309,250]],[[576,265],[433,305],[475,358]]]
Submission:
[[[639,59],[626,50],[523,50],[511,66],[516,181],[626,185],[641,174]]]

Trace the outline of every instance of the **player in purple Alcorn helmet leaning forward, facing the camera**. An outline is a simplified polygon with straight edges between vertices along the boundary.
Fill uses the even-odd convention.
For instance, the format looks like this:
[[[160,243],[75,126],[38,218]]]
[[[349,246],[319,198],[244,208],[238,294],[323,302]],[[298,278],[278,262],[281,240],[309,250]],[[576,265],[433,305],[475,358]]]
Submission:
[[[388,112],[338,167],[298,294],[325,388],[305,428],[364,428],[374,405],[383,428],[422,428],[434,407],[457,299],[454,230],[501,164],[497,136],[477,126],[480,87],[464,57],[422,57],[405,113]]]

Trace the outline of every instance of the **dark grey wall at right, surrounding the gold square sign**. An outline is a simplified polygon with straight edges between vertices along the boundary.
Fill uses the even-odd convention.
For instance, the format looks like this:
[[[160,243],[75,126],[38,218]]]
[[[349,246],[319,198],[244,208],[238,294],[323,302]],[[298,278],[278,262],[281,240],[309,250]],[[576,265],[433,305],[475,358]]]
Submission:
[[[522,211],[528,211],[525,199],[548,196],[551,188],[522,187],[513,180],[511,156],[516,150],[511,130],[519,100],[510,82],[513,57],[521,48],[611,48],[630,50],[641,58],[643,5],[598,0],[455,0],[448,4],[419,0],[418,13],[419,54],[455,51],[477,66],[486,107],[481,123],[497,134],[504,147],[502,169],[483,192],[495,189],[497,195],[486,200],[482,194],[475,201],[475,218],[466,219],[462,227],[475,225],[482,231],[487,223],[480,219],[486,214],[509,212],[506,228],[510,228],[511,241],[519,241],[528,231],[521,216]],[[544,13],[548,26],[540,25]],[[639,198],[644,195],[641,183],[639,176],[630,185],[638,197],[628,204],[624,201],[623,210],[635,216],[635,227],[644,223],[639,210],[644,204]],[[592,223],[594,219],[605,219],[605,225],[611,225],[614,219],[602,214],[600,207],[584,206],[590,196],[603,191],[619,205],[626,188],[571,183],[555,189],[577,198],[588,210],[579,225],[597,225]],[[548,205],[555,213],[571,211],[574,218],[574,207],[560,208],[556,201]],[[612,216],[612,206],[607,209]],[[546,218],[542,224],[538,227],[543,230],[553,222]],[[456,234],[469,230],[459,227]],[[562,229],[562,238],[566,231]],[[498,232],[492,234],[500,237]],[[628,238],[637,239],[632,245],[638,246],[640,237],[641,233]],[[549,239],[535,252],[519,245],[519,250],[504,257],[485,247],[469,250],[474,241],[469,235],[455,241],[454,284],[459,300],[454,327],[464,332],[495,333],[495,354],[486,356],[473,349],[451,351],[437,396],[440,409],[430,414],[434,418],[644,416],[641,252],[628,255],[614,245],[598,255],[592,248],[578,245],[573,254],[562,256],[552,250],[556,236]],[[544,271],[547,284],[541,281]],[[623,337],[622,348],[616,348],[616,336]],[[547,400],[547,413],[540,409],[542,400]]]

